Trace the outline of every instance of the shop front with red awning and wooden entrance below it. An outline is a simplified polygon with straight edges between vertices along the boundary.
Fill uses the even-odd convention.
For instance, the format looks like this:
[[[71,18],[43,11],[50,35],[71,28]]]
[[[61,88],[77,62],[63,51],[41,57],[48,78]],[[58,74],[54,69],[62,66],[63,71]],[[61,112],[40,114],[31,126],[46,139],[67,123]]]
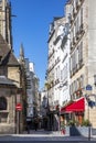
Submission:
[[[84,120],[84,111],[85,111],[85,99],[82,97],[76,101],[70,102],[67,106],[61,108],[61,117],[64,124],[68,124],[71,121],[74,121],[78,125],[82,124]]]

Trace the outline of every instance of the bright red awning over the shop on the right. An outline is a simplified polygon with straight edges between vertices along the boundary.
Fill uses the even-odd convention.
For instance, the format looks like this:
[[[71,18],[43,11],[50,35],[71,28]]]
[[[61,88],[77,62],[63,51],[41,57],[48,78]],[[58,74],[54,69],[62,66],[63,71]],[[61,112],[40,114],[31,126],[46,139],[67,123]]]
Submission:
[[[77,101],[74,101],[70,103],[68,106],[61,109],[62,112],[79,112],[85,110],[85,100],[84,98],[78,99]]]

